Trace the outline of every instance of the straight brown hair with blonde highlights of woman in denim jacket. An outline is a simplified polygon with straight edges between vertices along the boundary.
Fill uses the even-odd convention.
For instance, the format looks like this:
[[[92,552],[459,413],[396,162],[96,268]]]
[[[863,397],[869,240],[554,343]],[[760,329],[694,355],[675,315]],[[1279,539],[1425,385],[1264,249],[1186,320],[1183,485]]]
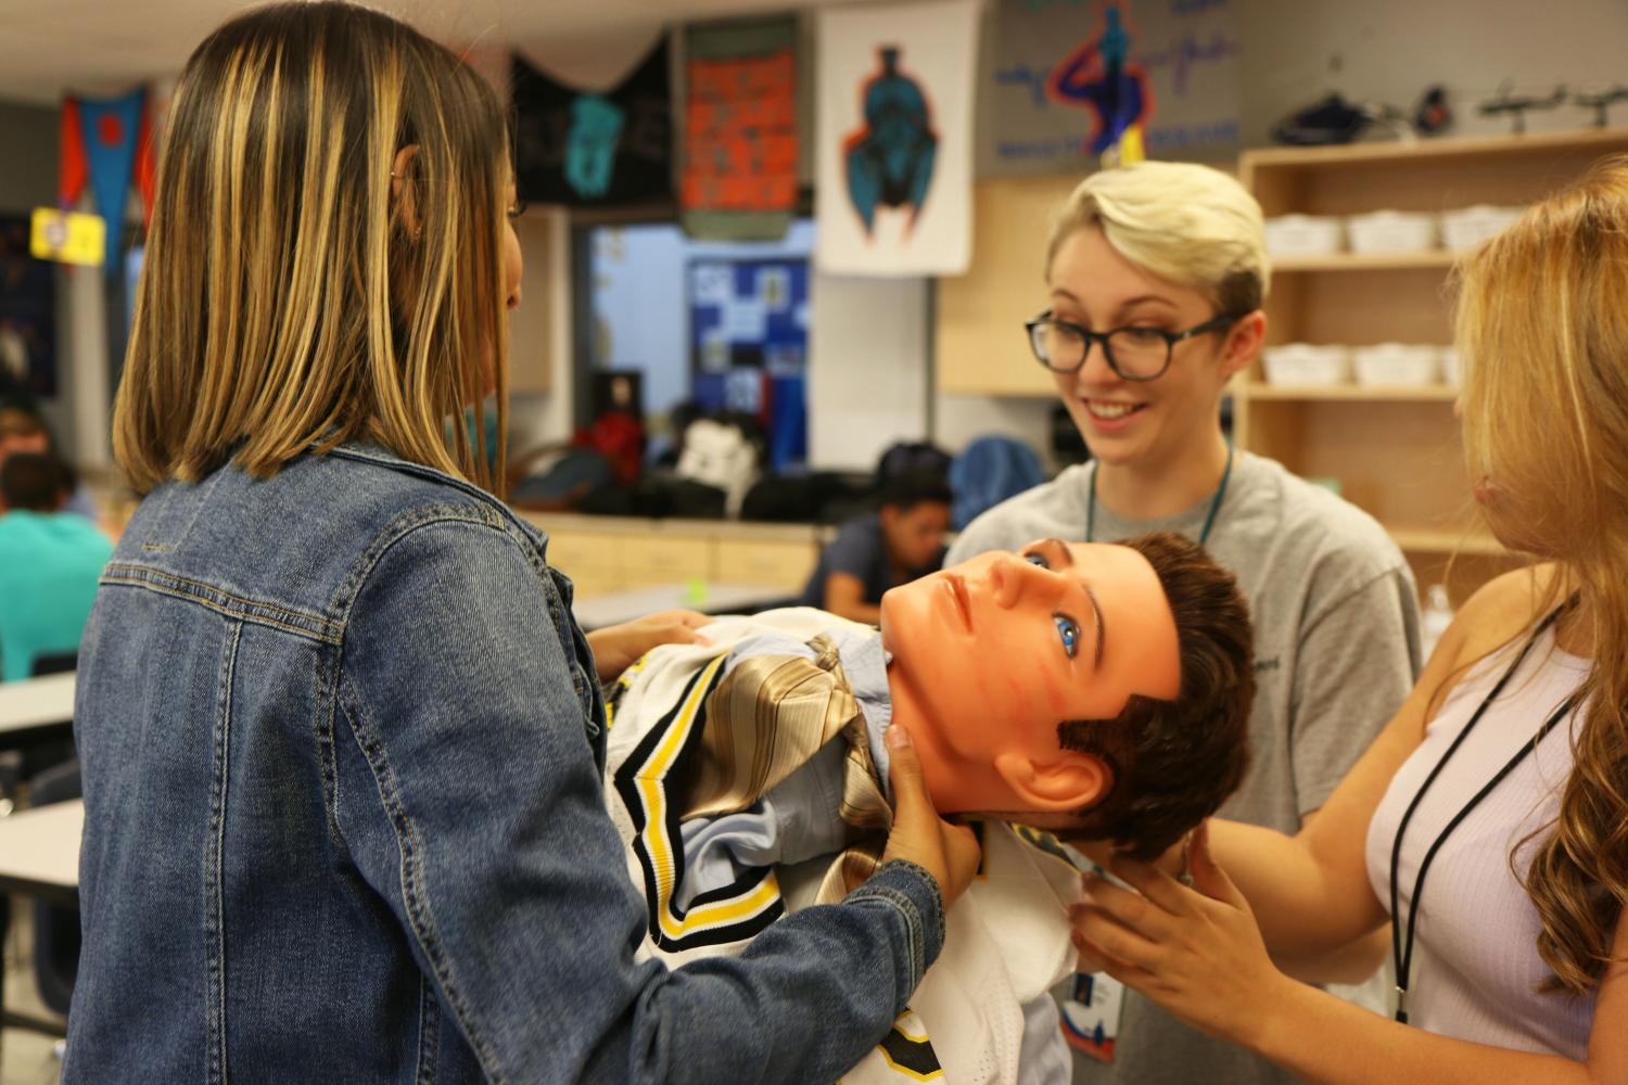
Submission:
[[[493,488],[448,416],[493,381],[506,438],[506,181],[492,89],[404,23],[274,3],[210,34],[171,104],[114,410],[137,493],[353,438]]]

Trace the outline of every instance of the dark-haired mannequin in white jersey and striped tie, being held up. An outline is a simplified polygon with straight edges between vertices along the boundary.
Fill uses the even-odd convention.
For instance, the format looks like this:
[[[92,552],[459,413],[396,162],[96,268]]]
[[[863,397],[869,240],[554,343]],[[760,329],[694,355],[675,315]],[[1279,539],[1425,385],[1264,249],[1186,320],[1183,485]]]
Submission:
[[[798,607],[653,651],[607,691],[606,800],[650,916],[640,955],[739,953],[788,909],[863,882],[892,817],[882,734],[900,722],[939,812],[985,815],[983,867],[910,1012],[843,1082],[934,1067],[957,1082],[1037,1080],[1026,1005],[1052,1013],[1031,1038],[1055,1036],[1047,991],[1073,970],[1079,880],[1055,839],[1021,825],[1089,826],[1107,797],[1122,800],[1130,747],[1065,748],[1060,734],[1065,721],[1123,729],[1133,701],[1185,698],[1175,613],[1141,551],[1042,540],[889,590],[881,633]],[[1236,782],[1245,717],[1247,696],[1203,773]]]

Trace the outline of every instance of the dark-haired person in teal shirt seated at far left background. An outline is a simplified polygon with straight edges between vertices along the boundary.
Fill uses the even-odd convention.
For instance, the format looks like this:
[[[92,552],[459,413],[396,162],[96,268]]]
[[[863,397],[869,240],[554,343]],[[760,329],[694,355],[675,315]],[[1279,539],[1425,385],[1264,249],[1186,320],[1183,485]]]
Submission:
[[[65,475],[46,455],[0,465],[0,682],[28,678],[39,656],[75,652],[112,542],[63,512]]]

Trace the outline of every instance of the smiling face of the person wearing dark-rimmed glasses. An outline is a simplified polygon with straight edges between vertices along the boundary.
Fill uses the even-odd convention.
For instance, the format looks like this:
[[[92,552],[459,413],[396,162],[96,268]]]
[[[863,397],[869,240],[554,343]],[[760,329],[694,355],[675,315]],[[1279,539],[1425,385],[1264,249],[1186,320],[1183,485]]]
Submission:
[[[1063,241],[1048,285],[1052,312],[1092,332],[1184,332],[1216,316],[1208,293],[1136,267],[1096,226]],[[1122,379],[1101,345],[1091,346],[1076,373],[1053,373],[1052,379],[1096,459],[1115,467],[1159,467],[1182,459],[1193,434],[1214,433],[1221,389],[1252,353],[1239,350],[1244,332],[1234,327],[1177,343],[1171,368],[1153,381]]]

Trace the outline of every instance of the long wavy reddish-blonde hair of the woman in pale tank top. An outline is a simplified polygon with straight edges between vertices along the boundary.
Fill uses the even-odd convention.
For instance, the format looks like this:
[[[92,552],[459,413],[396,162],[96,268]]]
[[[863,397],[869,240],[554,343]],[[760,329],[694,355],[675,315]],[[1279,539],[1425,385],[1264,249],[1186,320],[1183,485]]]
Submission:
[[[1578,590],[1594,657],[1560,815],[1525,888],[1551,989],[1594,989],[1628,900],[1628,156],[1543,200],[1460,270],[1464,447],[1512,550]]]

